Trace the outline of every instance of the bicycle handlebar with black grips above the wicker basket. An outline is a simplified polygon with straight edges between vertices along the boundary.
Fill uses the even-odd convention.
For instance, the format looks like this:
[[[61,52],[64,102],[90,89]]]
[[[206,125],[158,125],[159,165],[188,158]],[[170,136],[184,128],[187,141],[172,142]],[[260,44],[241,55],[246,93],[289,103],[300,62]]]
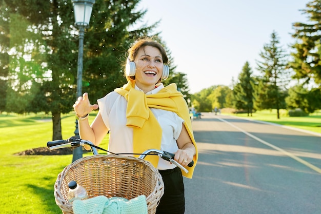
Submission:
[[[79,146],[84,146],[85,144],[89,145],[91,147],[91,151],[94,155],[98,154],[97,149],[107,151],[101,147],[95,146],[90,141],[79,139],[76,137],[71,137],[71,138],[68,138],[67,140],[48,141],[47,147],[50,150],[53,150],[53,149],[68,148],[68,147],[79,147]],[[107,151],[107,152],[110,152],[110,151]],[[112,153],[112,152],[110,152],[110,153]],[[115,153],[112,153],[112,154],[115,154]],[[118,154],[116,154],[116,155],[118,155]],[[172,164],[175,164],[177,167],[179,167],[180,169],[182,169],[186,173],[188,173],[188,170],[184,166],[180,165],[177,161],[174,160],[175,154],[173,154],[173,153],[170,153],[168,151],[162,151],[159,149],[148,149],[148,150],[144,151],[142,154],[140,154],[140,156],[138,158],[145,159],[146,155],[158,155],[158,157],[160,157],[166,161],[169,161]],[[189,167],[191,167],[193,165],[194,165],[194,161],[191,161],[188,164]]]

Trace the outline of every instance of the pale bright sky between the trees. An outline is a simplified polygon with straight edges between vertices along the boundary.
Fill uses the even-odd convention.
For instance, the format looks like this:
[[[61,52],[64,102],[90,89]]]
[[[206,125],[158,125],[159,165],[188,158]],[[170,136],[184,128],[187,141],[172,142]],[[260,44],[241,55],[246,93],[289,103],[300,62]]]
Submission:
[[[160,20],[155,32],[171,51],[176,72],[187,74],[190,93],[214,85],[230,86],[246,62],[256,61],[271,34],[290,52],[292,24],[307,23],[308,0],[142,0],[143,21]]]

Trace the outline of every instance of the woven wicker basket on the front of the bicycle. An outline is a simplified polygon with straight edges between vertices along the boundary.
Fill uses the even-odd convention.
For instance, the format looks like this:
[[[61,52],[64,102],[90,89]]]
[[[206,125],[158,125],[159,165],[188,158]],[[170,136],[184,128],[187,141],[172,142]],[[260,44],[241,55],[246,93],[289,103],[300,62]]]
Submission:
[[[130,200],[144,194],[148,214],[156,212],[164,194],[162,176],[150,162],[98,154],[78,159],[58,174],[54,196],[63,213],[73,213],[72,204],[67,200],[68,183],[72,180],[86,188],[89,198],[103,195]]]

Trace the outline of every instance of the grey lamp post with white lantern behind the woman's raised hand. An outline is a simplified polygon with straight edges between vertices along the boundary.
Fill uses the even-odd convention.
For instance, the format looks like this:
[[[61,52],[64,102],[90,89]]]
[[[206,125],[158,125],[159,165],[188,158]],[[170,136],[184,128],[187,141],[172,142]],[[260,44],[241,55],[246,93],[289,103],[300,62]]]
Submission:
[[[89,26],[92,7],[95,0],[71,0],[75,26],[79,29],[79,45],[78,45],[78,68],[77,68],[77,98],[83,95],[83,55],[84,55],[84,35],[85,28]],[[75,136],[79,137],[78,121],[76,120]],[[72,162],[83,157],[82,147],[73,150]]]

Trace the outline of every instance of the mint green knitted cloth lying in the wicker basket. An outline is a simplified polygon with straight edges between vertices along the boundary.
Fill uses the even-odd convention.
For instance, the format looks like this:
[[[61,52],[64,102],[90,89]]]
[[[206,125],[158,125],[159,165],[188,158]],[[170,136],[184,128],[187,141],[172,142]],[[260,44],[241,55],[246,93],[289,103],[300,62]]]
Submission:
[[[134,199],[97,196],[87,200],[73,201],[74,214],[147,214],[147,203],[144,195]]]

